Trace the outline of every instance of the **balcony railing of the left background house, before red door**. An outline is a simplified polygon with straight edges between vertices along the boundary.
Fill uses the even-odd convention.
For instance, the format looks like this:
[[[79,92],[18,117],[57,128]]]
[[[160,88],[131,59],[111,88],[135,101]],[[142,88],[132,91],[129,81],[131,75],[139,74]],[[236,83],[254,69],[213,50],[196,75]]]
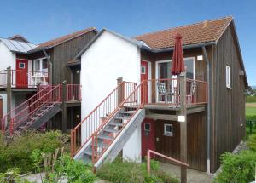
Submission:
[[[10,74],[9,74],[10,71]],[[6,88],[8,77],[12,88],[35,88],[38,84],[48,84],[48,72],[23,71],[23,70],[0,71],[0,88]]]

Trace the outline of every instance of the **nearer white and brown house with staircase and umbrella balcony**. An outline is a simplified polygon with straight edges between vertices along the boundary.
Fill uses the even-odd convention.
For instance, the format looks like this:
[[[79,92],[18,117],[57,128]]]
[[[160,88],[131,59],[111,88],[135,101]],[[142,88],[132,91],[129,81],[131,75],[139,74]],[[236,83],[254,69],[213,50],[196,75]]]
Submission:
[[[177,33],[186,80],[170,71]],[[248,84],[232,17],[133,38],[103,29],[70,64],[81,67],[83,85],[71,151],[96,168],[119,153],[141,162],[152,149],[215,172],[245,135]]]

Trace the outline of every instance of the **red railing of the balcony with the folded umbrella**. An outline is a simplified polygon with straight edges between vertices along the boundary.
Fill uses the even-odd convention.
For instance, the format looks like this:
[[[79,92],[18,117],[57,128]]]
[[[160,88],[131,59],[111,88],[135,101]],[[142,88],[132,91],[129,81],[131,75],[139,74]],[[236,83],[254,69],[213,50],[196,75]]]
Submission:
[[[180,105],[181,91],[178,78],[151,79],[145,82],[142,93],[145,104]],[[187,105],[207,103],[207,82],[187,79],[186,102]]]

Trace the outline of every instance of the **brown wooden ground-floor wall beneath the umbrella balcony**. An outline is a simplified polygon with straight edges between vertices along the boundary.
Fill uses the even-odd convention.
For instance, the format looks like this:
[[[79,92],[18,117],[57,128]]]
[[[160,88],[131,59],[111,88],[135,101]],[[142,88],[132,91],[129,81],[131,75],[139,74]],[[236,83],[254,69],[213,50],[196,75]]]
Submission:
[[[173,125],[173,136],[165,136],[164,123]],[[154,122],[156,151],[180,159],[180,123],[156,120]],[[206,171],[207,166],[207,123],[205,112],[188,116],[188,163],[190,169]],[[161,161],[166,161],[160,159]]]

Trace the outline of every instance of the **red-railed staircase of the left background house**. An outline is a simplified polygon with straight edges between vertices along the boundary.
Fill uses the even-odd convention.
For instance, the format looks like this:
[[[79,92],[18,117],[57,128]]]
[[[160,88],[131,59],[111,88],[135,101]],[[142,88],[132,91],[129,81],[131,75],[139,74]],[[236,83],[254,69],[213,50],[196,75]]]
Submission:
[[[2,118],[2,134],[38,129],[61,111],[61,84],[45,86]]]

